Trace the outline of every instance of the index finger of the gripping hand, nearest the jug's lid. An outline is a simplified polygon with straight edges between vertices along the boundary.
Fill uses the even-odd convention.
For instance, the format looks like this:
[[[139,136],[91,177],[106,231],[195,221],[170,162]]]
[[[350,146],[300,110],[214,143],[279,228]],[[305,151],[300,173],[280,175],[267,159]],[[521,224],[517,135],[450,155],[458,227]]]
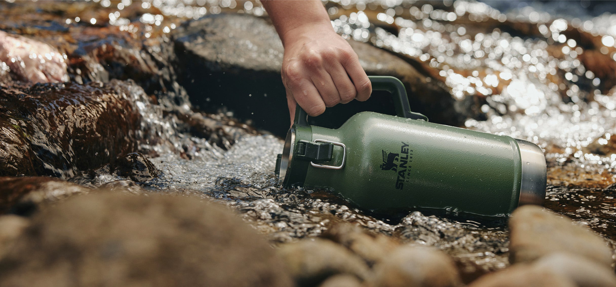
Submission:
[[[312,81],[307,76],[296,73],[296,71],[299,70],[287,71],[285,86],[291,91],[293,99],[308,115],[321,115],[325,111],[325,102],[321,99],[321,95]]]

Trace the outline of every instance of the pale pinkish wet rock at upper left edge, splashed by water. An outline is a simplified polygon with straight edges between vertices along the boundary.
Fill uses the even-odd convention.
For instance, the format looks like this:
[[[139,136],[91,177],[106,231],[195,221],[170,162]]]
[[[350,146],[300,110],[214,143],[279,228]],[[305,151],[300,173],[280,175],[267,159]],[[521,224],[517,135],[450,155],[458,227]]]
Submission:
[[[62,53],[44,42],[0,31],[0,70],[10,71],[17,81],[68,81],[65,59]]]

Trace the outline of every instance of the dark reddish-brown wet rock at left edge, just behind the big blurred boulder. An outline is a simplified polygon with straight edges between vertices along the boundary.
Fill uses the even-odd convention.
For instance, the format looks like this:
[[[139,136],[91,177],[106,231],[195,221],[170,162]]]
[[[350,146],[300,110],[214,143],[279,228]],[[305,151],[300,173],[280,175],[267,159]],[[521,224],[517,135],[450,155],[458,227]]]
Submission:
[[[30,214],[40,203],[61,200],[89,190],[53,177],[0,177],[0,212]]]

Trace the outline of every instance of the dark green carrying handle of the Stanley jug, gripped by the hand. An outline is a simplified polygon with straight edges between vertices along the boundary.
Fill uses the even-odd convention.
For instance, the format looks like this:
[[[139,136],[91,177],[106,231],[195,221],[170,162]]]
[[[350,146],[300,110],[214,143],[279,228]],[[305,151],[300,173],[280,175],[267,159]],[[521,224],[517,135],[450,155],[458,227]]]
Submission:
[[[368,76],[372,83],[372,91],[387,91],[391,93],[394,99],[395,113],[402,118],[423,119],[428,121],[428,117],[420,113],[413,113],[410,105],[408,105],[407,89],[402,82],[392,76]],[[294,124],[298,126],[308,125],[308,114],[299,104],[295,108]]]

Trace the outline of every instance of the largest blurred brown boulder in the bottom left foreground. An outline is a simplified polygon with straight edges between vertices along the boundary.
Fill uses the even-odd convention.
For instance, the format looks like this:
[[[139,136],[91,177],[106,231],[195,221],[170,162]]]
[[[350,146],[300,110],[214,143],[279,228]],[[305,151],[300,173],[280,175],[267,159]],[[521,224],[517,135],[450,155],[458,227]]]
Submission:
[[[292,286],[262,236],[196,198],[99,193],[36,214],[0,261],[10,286]]]

